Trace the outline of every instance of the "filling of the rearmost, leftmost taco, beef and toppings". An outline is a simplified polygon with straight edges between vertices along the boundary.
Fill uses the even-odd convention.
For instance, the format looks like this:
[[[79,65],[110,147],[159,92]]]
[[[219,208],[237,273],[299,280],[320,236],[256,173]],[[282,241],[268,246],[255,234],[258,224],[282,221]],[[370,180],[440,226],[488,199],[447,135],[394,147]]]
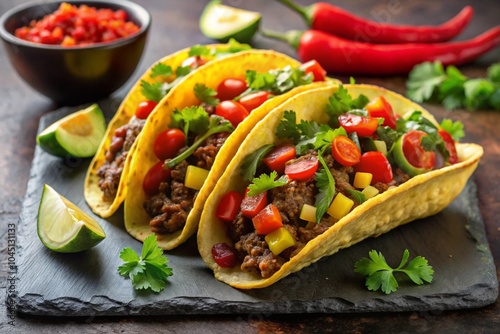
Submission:
[[[247,45],[235,41],[229,43],[229,48],[222,49],[194,46],[190,49],[188,58],[177,68],[173,69],[162,62],[151,68],[150,80],[141,80],[142,101],[137,104],[135,113],[128,123],[113,133],[110,146],[105,153],[106,160],[97,170],[98,185],[103,192],[104,200],[113,201],[116,197],[127,155],[142,131],[146,119],[163,97],[186,75],[208,61],[248,48]]]

